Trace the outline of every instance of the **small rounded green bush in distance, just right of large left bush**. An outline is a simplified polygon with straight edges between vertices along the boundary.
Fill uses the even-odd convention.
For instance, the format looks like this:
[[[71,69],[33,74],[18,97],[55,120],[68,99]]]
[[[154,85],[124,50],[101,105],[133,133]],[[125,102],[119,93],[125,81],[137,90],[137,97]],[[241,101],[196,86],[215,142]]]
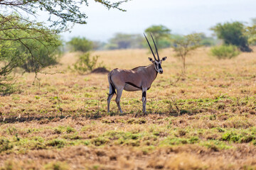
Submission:
[[[72,51],[88,52],[93,48],[93,42],[86,38],[75,37],[72,38],[68,45],[70,45]]]

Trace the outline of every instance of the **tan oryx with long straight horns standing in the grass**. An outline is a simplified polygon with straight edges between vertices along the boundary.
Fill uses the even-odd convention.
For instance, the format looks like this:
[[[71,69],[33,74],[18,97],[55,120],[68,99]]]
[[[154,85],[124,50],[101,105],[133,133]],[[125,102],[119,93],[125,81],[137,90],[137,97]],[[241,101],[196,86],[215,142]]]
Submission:
[[[145,38],[146,35],[144,34]],[[151,38],[154,42],[154,38],[151,35]],[[146,38],[146,41],[149,44],[149,40]],[[154,42],[154,46],[156,48],[156,44]],[[109,74],[107,74],[107,78],[110,84],[110,93],[107,97],[107,113],[110,112],[110,101],[114,94],[116,94],[115,89],[117,89],[117,98],[115,99],[117,106],[119,108],[120,113],[122,113],[122,109],[120,106],[120,98],[122,96],[122,91],[142,91],[142,111],[146,113],[146,91],[150,89],[150,86],[158,73],[162,74],[163,69],[161,67],[161,62],[166,60],[167,57],[163,57],[161,60],[159,59],[159,54],[156,48],[156,56],[149,44],[152,55],[154,56],[154,60],[149,57],[149,61],[152,64],[148,66],[140,66],[134,69],[113,69]]]

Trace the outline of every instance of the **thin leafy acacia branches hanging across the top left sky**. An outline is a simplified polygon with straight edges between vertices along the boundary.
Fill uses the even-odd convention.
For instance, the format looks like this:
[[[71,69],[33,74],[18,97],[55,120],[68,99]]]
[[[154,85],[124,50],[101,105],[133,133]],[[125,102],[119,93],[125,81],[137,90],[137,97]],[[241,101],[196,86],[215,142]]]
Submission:
[[[94,0],[102,4],[106,8],[117,8],[120,11],[125,11],[119,8],[119,5],[129,0],[117,1],[111,3],[106,0]],[[24,11],[28,15],[35,16],[38,10],[46,11],[49,14],[48,21],[50,27],[54,27],[55,31],[61,32],[63,29],[68,29],[68,22],[85,24],[87,15],[80,11],[82,5],[89,6],[87,0],[0,0],[0,8],[8,11]],[[55,17],[54,17],[55,16]]]

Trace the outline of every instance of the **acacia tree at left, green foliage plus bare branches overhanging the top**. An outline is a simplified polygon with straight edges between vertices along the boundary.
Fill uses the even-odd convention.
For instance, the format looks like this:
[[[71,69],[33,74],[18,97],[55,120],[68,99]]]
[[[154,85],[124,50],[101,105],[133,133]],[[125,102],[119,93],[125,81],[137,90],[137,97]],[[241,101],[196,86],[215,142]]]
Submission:
[[[124,9],[119,5],[126,1],[129,0],[95,0],[120,11]],[[87,23],[86,13],[80,11],[82,4],[89,6],[87,0],[0,0],[0,90],[11,71],[28,57],[32,60],[30,70],[37,74],[44,64],[36,56],[40,55],[41,46],[49,49],[59,45],[57,33],[70,30],[75,23]],[[48,13],[48,27],[30,19],[36,18],[38,11]],[[23,52],[18,48],[23,48]]]

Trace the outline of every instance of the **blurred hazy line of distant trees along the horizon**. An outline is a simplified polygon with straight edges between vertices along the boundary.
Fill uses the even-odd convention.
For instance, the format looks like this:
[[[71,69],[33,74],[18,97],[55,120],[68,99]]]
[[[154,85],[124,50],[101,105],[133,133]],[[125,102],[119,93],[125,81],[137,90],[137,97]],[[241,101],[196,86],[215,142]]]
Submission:
[[[215,45],[235,45],[242,52],[250,52],[250,45],[256,42],[256,19],[252,20],[252,26],[245,26],[240,22],[218,23],[210,28],[215,33],[215,37],[208,37],[204,33],[197,33],[199,45],[215,46]],[[153,35],[156,45],[159,49],[168,47],[177,47],[177,42],[186,39],[186,35],[171,33],[171,30],[163,25],[154,25],[146,28],[144,33],[151,41],[150,36]],[[153,42],[150,42],[153,43]],[[144,35],[116,33],[107,42],[94,42],[86,38],[75,37],[68,42],[69,50],[87,52],[90,50],[117,50],[132,48],[147,48]]]

